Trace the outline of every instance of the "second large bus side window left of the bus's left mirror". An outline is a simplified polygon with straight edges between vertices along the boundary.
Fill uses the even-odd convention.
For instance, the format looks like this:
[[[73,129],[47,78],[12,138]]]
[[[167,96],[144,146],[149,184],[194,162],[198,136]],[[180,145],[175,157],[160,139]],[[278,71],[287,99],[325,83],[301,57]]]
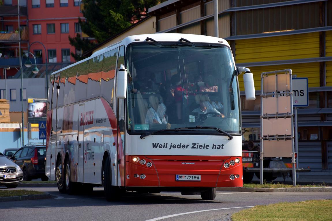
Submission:
[[[102,75],[104,55],[98,55],[91,59],[88,74],[88,87],[86,98],[94,98],[100,96],[100,81]]]

